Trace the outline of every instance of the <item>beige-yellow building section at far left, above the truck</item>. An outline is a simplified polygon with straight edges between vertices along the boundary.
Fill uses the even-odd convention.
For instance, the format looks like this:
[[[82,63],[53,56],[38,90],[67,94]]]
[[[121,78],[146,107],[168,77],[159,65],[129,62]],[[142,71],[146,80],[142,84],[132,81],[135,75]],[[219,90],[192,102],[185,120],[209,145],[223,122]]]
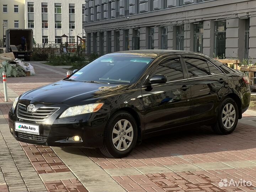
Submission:
[[[25,27],[24,0],[1,0],[0,6],[0,39],[4,39],[5,43],[6,29]],[[2,47],[2,41],[0,41],[0,47]]]

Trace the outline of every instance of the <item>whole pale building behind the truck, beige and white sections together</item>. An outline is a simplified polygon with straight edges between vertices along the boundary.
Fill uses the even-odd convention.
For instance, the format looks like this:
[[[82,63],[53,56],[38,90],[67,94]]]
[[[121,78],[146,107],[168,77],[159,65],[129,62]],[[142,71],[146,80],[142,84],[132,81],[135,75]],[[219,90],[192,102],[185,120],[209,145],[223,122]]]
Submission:
[[[28,28],[33,29],[34,41],[39,44],[60,43],[63,34],[69,42],[76,42],[76,36],[84,36],[84,4],[84,0],[1,0],[0,22],[4,35],[7,28]]]

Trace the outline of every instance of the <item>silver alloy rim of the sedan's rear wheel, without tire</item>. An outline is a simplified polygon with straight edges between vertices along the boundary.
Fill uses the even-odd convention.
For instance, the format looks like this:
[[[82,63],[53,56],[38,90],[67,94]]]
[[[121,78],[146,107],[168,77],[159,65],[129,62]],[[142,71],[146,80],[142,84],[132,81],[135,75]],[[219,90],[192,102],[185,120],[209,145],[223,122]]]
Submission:
[[[236,111],[234,105],[228,103],[225,105],[222,111],[222,123],[226,129],[230,129],[236,119]]]

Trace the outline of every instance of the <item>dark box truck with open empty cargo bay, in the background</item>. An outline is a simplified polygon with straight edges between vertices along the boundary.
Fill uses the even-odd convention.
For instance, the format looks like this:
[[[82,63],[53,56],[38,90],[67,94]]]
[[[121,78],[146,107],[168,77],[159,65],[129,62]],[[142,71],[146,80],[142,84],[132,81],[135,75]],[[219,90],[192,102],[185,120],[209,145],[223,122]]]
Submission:
[[[7,29],[6,52],[13,52],[15,58],[30,61],[33,52],[33,30]]]

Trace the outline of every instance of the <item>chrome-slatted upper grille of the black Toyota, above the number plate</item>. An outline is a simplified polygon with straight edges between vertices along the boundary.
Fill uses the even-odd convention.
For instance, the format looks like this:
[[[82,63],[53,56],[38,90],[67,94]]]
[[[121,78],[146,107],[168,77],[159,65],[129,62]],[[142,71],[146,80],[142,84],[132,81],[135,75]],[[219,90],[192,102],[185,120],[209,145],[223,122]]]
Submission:
[[[35,112],[28,112],[26,105],[18,103],[17,117],[30,121],[46,121],[58,110],[56,107],[40,107]]]

